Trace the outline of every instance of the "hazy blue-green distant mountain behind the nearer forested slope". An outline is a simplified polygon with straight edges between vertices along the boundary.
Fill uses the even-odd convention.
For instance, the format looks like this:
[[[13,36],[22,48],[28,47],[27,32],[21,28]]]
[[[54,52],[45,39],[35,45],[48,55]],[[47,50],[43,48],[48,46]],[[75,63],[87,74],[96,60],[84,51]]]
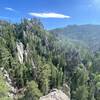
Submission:
[[[93,51],[100,49],[100,25],[69,25],[50,32],[60,37],[84,42]]]

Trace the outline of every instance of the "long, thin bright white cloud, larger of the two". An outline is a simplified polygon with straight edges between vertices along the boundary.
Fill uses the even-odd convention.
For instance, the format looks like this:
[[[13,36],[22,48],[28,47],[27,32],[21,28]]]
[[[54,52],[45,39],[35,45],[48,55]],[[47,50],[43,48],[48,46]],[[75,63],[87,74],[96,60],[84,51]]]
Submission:
[[[70,16],[59,13],[34,13],[30,12],[29,15],[40,18],[70,18]]]

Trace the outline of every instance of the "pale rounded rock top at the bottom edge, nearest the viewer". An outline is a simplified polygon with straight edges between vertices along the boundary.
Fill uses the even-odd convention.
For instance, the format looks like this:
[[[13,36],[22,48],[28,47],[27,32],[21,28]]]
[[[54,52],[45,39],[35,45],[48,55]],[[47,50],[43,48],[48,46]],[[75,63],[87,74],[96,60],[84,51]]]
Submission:
[[[40,97],[40,100],[70,100],[70,97],[67,96],[61,90],[53,90],[48,95]]]

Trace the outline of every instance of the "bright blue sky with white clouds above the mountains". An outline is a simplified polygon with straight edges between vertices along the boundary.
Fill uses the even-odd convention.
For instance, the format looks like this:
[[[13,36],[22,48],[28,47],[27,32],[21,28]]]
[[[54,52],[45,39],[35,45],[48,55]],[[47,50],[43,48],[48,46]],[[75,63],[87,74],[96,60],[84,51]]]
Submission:
[[[100,24],[100,0],[0,0],[0,19],[40,18],[46,29]]]

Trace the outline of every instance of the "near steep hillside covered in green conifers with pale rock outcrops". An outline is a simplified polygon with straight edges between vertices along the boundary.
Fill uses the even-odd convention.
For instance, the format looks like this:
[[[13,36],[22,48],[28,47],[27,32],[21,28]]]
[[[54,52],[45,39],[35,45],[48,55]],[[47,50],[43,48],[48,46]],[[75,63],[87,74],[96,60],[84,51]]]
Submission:
[[[54,88],[67,91],[64,84],[71,100],[100,100],[100,52],[59,39],[38,19],[16,24],[1,20],[0,100],[39,100]]]

